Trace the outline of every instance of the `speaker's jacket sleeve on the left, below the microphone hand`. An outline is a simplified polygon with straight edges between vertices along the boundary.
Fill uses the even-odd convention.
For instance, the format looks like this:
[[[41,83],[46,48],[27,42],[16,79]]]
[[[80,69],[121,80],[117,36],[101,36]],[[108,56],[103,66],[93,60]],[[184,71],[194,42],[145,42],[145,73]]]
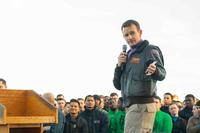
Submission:
[[[113,84],[117,90],[121,90],[120,78],[122,75],[121,67],[116,66],[113,78]]]

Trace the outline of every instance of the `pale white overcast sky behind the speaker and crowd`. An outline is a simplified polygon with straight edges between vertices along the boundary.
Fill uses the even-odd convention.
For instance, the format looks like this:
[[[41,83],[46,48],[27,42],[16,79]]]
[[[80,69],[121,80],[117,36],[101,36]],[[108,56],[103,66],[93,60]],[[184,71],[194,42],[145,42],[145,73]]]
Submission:
[[[164,55],[165,92],[200,98],[199,0],[1,0],[0,78],[11,89],[63,93],[67,100],[109,95],[125,41],[121,24],[135,19],[143,39]]]

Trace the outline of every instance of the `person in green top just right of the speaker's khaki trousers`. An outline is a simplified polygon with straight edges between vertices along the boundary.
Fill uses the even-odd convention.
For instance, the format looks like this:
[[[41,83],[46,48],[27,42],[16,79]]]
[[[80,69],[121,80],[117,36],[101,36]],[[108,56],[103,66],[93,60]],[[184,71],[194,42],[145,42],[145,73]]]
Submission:
[[[154,103],[157,107],[157,112],[154,120],[153,133],[171,133],[172,132],[172,118],[169,114],[160,110],[161,99],[154,96]]]

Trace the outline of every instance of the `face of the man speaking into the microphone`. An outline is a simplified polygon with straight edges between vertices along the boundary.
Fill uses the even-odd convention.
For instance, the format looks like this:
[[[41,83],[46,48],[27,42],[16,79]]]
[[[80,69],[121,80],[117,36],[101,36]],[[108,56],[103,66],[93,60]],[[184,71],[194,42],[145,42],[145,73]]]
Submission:
[[[133,47],[141,40],[142,30],[137,29],[134,24],[122,29],[122,34],[130,47]]]

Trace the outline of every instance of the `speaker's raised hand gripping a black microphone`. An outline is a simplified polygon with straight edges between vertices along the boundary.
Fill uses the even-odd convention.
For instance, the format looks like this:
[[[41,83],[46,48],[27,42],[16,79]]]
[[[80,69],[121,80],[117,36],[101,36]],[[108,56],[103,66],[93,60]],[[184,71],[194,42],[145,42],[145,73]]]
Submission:
[[[120,53],[120,55],[118,56],[118,66],[121,67],[123,66],[124,63],[126,63],[126,58],[127,58],[127,46],[123,45],[122,46],[122,52]]]

